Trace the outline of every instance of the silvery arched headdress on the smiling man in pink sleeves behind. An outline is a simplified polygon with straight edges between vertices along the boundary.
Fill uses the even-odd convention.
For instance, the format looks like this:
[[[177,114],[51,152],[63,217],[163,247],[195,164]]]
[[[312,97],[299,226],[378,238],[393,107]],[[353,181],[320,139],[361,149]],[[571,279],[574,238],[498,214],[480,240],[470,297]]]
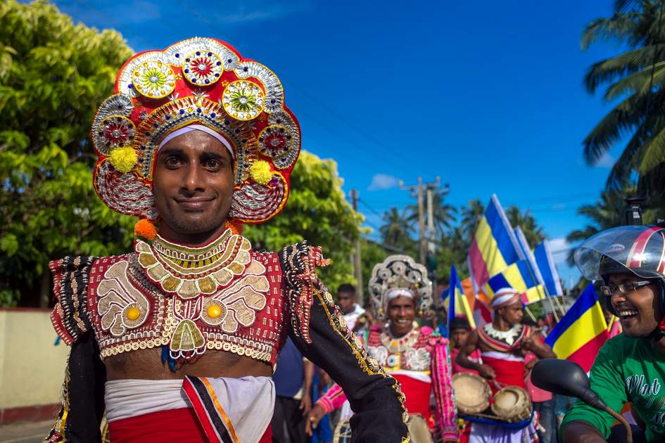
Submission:
[[[374,266],[369,278],[369,297],[379,320],[386,319],[388,302],[400,295],[413,298],[420,317],[429,319],[434,315],[427,269],[406,255],[391,255]]]

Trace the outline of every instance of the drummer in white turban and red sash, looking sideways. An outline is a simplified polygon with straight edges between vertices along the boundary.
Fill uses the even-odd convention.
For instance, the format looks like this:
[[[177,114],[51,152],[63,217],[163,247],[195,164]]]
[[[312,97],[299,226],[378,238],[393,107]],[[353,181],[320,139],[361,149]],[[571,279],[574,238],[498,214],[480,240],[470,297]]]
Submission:
[[[494,310],[492,323],[474,330],[466,344],[457,354],[457,363],[465,368],[478,371],[490,380],[492,392],[501,387],[517,386],[526,388],[524,378],[524,355],[531,351],[540,359],[556,358],[552,349],[541,342],[528,326],[521,323],[524,318],[524,306],[521,294],[512,288],[498,290],[491,301]],[[482,363],[469,359],[476,349],[481,350]],[[469,442],[490,443],[501,439],[502,442],[528,442],[537,439],[535,429],[529,425],[519,430],[500,428],[488,424],[473,423]]]

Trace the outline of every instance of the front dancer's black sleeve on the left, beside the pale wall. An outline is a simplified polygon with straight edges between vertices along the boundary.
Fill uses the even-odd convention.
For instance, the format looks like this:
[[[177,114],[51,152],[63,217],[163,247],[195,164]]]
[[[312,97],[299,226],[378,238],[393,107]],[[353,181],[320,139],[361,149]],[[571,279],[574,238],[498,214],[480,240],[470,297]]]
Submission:
[[[99,425],[104,414],[106,367],[99,358],[99,347],[91,333],[72,344],[62,407],[47,441],[101,442]]]

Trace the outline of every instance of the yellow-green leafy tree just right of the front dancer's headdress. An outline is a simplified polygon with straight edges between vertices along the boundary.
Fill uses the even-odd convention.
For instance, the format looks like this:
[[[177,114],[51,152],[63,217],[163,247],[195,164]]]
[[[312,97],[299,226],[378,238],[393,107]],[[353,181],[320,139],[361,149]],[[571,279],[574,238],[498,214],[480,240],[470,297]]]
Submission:
[[[291,174],[291,195],[284,210],[267,223],[247,226],[243,235],[255,250],[279,250],[302,240],[321,246],[332,264],[320,271],[331,290],[352,282],[350,257],[362,216],[344,198],[334,160],[303,151]]]

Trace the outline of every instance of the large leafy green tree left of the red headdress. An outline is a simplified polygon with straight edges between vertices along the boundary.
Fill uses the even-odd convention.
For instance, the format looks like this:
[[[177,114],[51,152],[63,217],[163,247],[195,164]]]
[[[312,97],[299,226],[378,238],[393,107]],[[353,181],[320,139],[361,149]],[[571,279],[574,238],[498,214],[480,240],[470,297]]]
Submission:
[[[51,259],[131,245],[131,217],[91,186],[89,143],[131,55],[117,32],[74,25],[46,1],[0,2],[0,304],[48,300]]]

